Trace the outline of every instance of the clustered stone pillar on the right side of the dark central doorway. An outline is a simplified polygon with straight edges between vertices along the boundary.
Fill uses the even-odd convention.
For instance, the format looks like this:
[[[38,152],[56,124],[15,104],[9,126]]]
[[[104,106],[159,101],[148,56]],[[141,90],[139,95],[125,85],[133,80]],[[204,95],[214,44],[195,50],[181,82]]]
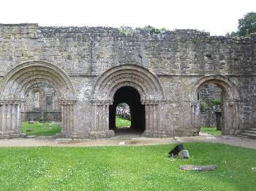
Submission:
[[[162,130],[162,109],[161,102],[158,100],[143,100],[141,104],[145,105],[146,129],[143,136],[163,137],[166,132]]]

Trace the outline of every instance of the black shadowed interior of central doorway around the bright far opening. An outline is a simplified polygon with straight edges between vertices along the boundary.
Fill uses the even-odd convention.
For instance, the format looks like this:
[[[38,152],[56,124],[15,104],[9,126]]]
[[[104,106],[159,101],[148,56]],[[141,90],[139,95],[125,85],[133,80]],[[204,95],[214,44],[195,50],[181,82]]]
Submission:
[[[116,128],[116,106],[121,103],[129,105],[131,114],[130,128]],[[140,103],[140,93],[134,87],[121,87],[115,95],[113,105],[109,107],[109,128],[116,134],[143,133],[145,130],[145,106]]]

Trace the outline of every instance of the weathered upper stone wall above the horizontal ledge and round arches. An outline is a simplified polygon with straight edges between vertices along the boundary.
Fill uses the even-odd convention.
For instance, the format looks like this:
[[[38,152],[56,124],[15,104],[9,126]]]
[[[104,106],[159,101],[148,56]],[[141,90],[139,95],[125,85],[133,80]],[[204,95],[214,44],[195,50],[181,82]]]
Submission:
[[[139,64],[158,75],[256,74],[256,34],[210,36],[205,31],[0,24],[0,76],[24,61],[43,60],[70,75],[102,74]]]

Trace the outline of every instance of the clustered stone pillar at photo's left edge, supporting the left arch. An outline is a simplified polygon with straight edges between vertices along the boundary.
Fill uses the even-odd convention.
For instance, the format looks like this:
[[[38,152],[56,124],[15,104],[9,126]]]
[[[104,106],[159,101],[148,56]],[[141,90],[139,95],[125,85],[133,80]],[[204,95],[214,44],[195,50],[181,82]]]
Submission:
[[[20,100],[0,100],[0,139],[22,137]]]

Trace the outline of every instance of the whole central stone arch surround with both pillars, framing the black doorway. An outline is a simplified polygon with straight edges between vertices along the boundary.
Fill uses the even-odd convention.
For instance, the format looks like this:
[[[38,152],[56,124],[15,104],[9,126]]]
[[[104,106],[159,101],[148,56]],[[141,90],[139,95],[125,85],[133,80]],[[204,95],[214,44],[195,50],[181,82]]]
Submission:
[[[116,91],[125,86],[134,87],[140,93],[141,104],[145,105],[145,136],[162,136],[162,102],[165,93],[157,77],[143,66],[125,64],[105,71],[94,84],[91,93],[91,138],[110,137],[109,106],[113,104]]]

